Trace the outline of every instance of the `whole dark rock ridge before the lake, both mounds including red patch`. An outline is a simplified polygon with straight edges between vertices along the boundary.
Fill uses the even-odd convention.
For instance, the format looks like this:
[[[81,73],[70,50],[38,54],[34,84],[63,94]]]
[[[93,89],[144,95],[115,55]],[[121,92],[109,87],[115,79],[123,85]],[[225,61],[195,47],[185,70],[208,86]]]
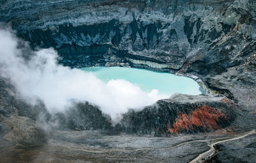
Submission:
[[[170,99],[159,100],[156,104],[144,107],[141,111],[130,109],[120,121],[111,121],[109,116],[102,114],[99,107],[86,102],[74,105],[65,113],[52,115],[49,122],[58,124],[56,127],[62,129],[170,136],[177,133],[230,130],[229,127],[239,130],[244,127],[240,123],[246,118],[244,114],[237,115],[237,109],[232,100],[222,95],[176,94]],[[248,121],[252,122],[252,118]]]

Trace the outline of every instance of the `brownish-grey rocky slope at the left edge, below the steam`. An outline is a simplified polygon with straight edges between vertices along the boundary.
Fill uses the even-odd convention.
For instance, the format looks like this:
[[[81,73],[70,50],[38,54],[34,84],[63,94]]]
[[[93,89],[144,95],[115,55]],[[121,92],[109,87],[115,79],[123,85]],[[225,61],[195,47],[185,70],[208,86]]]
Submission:
[[[8,84],[9,83],[9,84]],[[15,91],[9,81],[0,77],[0,142],[6,144],[4,139],[19,146],[35,146],[45,143],[45,132],[36,125],[39,114],[45,114],[45,110],[37,110],[36,107],[17,100]],[[24,109],[26,105],[26,109]],[[24,117],[18,116],[24,111],[28,114]],[[36,112],[36,113],[35,113]]]

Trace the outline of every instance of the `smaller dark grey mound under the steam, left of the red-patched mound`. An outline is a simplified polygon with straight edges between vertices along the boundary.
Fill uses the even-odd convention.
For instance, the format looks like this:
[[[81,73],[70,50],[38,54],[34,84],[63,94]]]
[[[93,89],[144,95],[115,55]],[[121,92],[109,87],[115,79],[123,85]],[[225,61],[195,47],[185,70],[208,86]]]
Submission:
[[[108,134],[113,132],[110,116],[102,113],[99,107],[89,102],[79,102],[67,111],[51,114],[49,123],[57,124],[56,127],[61,129],[101,130]]]

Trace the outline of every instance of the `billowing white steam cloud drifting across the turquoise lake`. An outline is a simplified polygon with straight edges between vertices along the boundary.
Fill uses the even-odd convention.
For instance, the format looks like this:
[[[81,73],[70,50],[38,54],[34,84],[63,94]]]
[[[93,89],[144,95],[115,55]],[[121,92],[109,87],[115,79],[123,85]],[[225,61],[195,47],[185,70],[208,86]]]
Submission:
[[[115,119],[129,108],[140,109],[168,98],[157,90],[146,93],[128,81],[106,83],[92,73],[58,65],[53,49],[32,52],[35,55],[25,61],[17,42],[10,31],[0,30],[0,75],[8,77],[29,101],[40,98],[50,112],[64,111],[70,107],[70,100],[88,101]]]

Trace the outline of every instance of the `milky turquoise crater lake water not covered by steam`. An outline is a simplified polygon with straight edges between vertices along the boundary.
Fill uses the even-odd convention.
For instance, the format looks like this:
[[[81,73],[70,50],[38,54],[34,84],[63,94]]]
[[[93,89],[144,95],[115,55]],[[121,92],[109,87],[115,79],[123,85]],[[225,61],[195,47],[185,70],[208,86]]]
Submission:
[[[171,95],[183,93],[188,95],[199,95],[199,85],[188,77],[180,77],[169,73],[152,72],[138,68],[125,67],[87,67],[82,68],[86,72],[93,72],[102,81],[108,82],[111,79],[124,79],[144,91],[150,92],[158,89],[159,93]]]

